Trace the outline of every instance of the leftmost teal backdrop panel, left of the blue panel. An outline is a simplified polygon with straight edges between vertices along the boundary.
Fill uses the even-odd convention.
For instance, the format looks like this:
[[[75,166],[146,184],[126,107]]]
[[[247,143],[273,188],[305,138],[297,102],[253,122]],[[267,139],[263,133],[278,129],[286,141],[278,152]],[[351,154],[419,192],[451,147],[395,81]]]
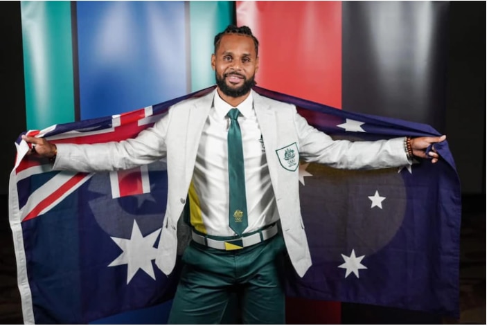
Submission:
[[[21,1],[27,129],[75,119],[70,1]]]

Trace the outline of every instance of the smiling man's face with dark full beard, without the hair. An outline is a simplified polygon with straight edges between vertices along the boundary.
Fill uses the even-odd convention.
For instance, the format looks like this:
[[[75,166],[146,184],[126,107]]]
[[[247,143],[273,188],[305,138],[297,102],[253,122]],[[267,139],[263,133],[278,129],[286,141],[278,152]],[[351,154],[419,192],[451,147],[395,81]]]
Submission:
[[[258,57],[255,44],[249,36],[228,34],[221,38],[212,55],[217,87],[226,96],[245,96],[255,84]]]

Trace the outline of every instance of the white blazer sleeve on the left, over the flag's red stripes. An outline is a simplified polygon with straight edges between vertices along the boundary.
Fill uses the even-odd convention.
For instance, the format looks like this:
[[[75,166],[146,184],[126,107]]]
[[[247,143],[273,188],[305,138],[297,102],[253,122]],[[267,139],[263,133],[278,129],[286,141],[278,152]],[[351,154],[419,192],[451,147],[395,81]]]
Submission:
[[[98,144],[57,144],[53,170],[126,170],[166,157],[166,132],[172,110],[135,138]]]

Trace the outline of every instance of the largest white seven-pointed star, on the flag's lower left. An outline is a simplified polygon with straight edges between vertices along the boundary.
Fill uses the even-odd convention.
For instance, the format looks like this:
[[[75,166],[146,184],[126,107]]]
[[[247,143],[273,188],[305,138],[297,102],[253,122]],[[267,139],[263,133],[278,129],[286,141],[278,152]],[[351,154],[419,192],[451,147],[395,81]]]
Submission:
[[[156,280],[151,261],[157,257],[157,248],[154,248],[154,242],[160,230],[161,228],[143,237],[136,220],[134,220],[131,239],[111,237],[119,248],[123,250],[123,253],[111,262],[109,267],[127,264],[127,284],[131,282],[139,269],[142,269],[153,280]]]

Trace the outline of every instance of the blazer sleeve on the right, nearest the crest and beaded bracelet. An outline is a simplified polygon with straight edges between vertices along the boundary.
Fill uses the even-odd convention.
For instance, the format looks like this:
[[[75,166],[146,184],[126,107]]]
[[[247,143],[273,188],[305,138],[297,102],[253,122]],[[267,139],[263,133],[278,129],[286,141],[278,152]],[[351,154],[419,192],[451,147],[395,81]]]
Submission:
[[[404,151],[404,138],[381,141],[335,141],[310,126],[303,116],[294,111],[299,152],[301,159],[306,162],[317,162],[347,170],[382,169],[412,163]]]

